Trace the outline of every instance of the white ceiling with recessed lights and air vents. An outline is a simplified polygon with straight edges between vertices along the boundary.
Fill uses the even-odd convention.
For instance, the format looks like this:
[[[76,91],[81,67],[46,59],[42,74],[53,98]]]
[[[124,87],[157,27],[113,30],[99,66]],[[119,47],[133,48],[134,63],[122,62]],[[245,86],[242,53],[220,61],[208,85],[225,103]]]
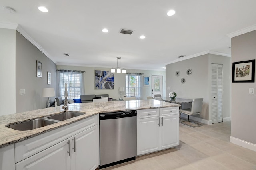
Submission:
[[[116,67],[121,57],[126,69],[164,70],[180,55],[230,55],[227,34],[254,26],[255,7],[256,0],[1,0],[0,23],[18,24],[57,65]],[[167,16],[170,9],[176,14]]]

